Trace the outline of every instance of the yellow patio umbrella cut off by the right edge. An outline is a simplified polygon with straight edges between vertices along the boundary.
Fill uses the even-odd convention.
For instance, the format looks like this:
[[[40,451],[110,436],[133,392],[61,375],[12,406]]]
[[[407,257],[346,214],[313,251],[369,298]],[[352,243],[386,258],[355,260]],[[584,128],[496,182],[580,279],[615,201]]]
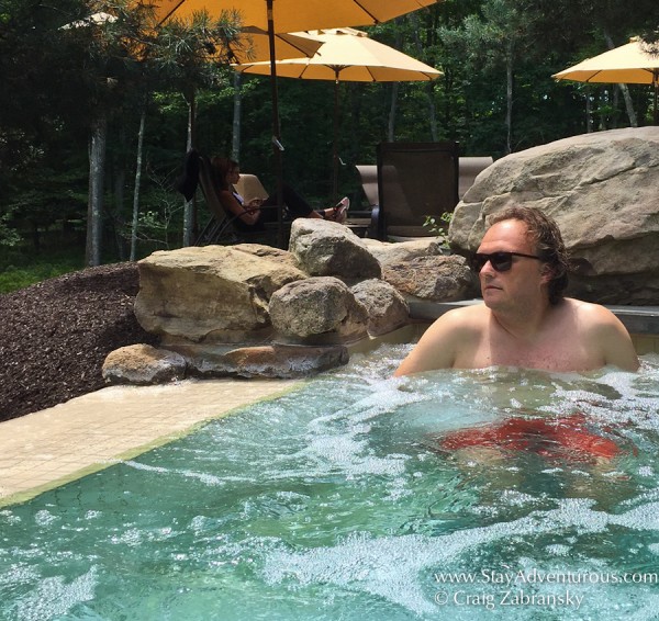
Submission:
[[[578,82],[652,84],[655,87],[654,121],[657,124],[659,55],[647,52],[637,37],[626,45],[587,58],[573,67],[554,74],[552,77],[557,80]]]

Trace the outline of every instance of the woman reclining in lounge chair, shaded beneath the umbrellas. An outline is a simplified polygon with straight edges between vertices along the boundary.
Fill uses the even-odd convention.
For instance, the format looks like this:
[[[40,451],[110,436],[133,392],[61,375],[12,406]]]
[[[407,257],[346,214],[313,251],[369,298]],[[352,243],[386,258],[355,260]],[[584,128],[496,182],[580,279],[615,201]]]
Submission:
[[[266,200],[250,199],[245,201],[236,191],[235,184],[241,179],[241,167],[236,161],[225,157],[214,157],[211,166],[217,180],[217,194],[224,210],[236,216],[235,223],[241,228],[253,230],[261,227],[263,223],[277,222],[277,195],[270,195]],[[283,184],[283,204],[288,207],[290,216],[324,218],[343,223],[346,212],[350,206],[350,200],[342,199],[335,207],[323,211],[314,211],[309,203],[300,196],[290,185]],[[270,208],[266,208],[270,207]]]

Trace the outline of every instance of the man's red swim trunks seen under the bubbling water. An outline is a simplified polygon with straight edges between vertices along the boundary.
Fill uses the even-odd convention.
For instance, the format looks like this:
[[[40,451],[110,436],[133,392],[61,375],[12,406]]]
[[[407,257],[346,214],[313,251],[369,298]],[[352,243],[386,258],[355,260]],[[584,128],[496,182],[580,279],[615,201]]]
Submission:
[[[445,451],[485,447],[578,461],[612,459],[623,452],[613,440],[589,431],[583,414],[560,418],[509,418],[487,427],[449,432],[439,438],[438,443]]]

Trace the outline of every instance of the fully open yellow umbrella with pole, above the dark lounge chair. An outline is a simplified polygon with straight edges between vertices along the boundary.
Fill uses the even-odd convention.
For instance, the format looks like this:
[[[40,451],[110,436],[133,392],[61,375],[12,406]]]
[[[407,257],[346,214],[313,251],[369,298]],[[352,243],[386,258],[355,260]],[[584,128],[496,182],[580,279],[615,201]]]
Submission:
[[[406,82],[435,80],[444,74],[393,47],[370,38],[365,32],[344,27],[293,33],[322,42],[312,57],[277,60],[277,75],[282,78],[334,80],[334,199],[338,182],[338,83]],[[242,74],[267,76],[270,63],[247,63],[233,66]]]

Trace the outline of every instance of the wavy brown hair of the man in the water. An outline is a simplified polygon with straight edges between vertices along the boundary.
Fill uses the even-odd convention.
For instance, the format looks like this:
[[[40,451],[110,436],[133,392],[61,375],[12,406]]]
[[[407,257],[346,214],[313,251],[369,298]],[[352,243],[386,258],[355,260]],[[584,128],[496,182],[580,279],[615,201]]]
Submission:
[[[556,222],[540,210],[533,207],[507,207],[492,214],[488,225],[505,219],[518,219],[526,224],[536,252],[551,270],[549,281],[549,304],[558,304],[568,286],[570,258]]]

